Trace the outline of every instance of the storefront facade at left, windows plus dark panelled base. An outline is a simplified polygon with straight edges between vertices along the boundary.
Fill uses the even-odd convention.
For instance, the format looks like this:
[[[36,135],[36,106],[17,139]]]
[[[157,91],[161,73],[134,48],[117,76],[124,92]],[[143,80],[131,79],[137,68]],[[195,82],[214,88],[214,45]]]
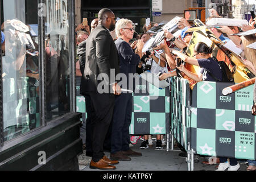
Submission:
[[[1,0],[0,170],[79,169],[74,7]]]

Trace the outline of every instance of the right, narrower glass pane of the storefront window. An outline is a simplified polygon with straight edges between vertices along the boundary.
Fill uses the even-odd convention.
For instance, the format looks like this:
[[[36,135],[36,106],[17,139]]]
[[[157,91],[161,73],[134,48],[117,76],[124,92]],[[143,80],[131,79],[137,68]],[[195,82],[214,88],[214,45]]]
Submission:
[[[46,1],[46,121],[70,111],[68,1]]]

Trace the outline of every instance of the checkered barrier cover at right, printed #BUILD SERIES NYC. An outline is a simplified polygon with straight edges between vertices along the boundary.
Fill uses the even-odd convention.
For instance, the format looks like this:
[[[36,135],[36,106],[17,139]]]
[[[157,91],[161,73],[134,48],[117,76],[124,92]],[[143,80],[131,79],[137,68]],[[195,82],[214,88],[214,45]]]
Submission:
[[[175,81],[181,80],[183,79],[174,78],[172,82],[175,85]],[[232,83],[208,81],[195,85],[191,97],[191,117],[188,117],[185,126],[185,139],[191,141],[191,148],[197,154],[254,160],[256,126],[255,117],[251,114],[253,85],[223,96],[222,89],[230,85]],[[176,98],[172,97],[172,100],[176,101]],[[175,112],[172,112],[172,115],[174,119],[171,126],[179,127],[180,115]],[[185,115],[188,116],[188,107]],[[176,124],[176,121],[179,124]],[[180,129],[175,127],[172,132],[181,142],[180,136],[177,136],[180,135]]]

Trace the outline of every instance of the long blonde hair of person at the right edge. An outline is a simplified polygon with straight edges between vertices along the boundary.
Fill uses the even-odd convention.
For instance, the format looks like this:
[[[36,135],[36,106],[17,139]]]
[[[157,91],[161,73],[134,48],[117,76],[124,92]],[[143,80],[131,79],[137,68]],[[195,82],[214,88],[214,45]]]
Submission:
[[[256,37],[253,35],[242,36],[242,44],[245,52],[245,59],[253,63],[254,68],[256,68],[256,50],[248,48],[246,46],[256,42]]]

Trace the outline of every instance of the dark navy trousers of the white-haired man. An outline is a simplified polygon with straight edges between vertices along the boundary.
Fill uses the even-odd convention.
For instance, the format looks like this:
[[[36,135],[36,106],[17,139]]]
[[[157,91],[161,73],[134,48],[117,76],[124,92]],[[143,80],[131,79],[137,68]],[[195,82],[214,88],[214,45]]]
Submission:
[[[115,96],[111,137],[111,153],[113,154],[118,151],[129,150],[132,99],[131,93]]]

